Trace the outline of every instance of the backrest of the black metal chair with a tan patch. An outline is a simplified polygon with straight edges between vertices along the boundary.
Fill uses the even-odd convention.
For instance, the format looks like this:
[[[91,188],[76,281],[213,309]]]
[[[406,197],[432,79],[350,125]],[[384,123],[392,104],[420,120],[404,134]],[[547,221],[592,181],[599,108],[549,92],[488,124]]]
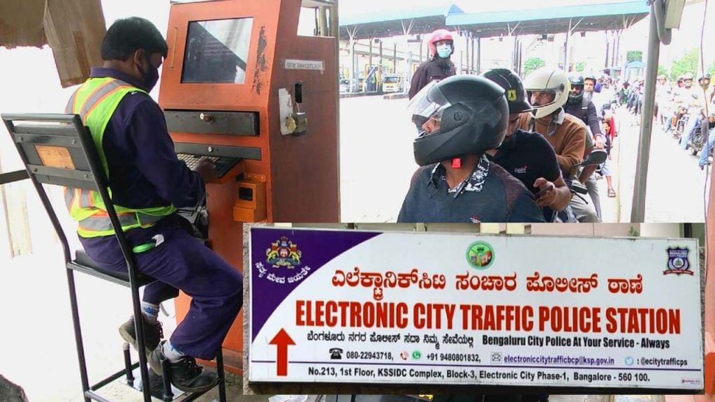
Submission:
[[[69,244],[56,212],[42,184],[95,190],[107,207],[114,232],[127,261],[131,250],[119,224],[117,212],[107,191],[107,177],[89,129],[78,114],[0,114],[24,162],[69,262]]]

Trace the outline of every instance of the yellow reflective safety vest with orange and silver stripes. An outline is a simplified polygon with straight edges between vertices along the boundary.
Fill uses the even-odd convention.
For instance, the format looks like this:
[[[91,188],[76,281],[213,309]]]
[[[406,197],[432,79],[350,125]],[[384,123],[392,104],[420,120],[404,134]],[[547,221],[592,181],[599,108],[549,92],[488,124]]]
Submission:
[[[112,118],[112,114],[117,109],[119,102],[129,92],[144,91],[127,84],[127,82],[111,77],[90,78],[72,94],[65,109],[68,114],[79,114],[84,125],[89,127],[94,146],[97,148],[99,159],[104,168],[105,177],[109,177],[109,168],[107,167],[107,157],[104,155],[104,149],[102,148],[104,129],[107,128],[109,119]],[[112,197],[112,189],[108,188],[107,190],[109,196]],[[64,192],[64,201],[71,217],[79,222],[77,233],[80,236],[114,235],[112,221],[109,220],[107,207],[104,206],[99,192],[67,187]],[[129,208],[115,204],[114,210],[117,211],[122,231],[126,232],[135,227],[151,227],[163,217],[174,212],[176,208],[174,205]]]

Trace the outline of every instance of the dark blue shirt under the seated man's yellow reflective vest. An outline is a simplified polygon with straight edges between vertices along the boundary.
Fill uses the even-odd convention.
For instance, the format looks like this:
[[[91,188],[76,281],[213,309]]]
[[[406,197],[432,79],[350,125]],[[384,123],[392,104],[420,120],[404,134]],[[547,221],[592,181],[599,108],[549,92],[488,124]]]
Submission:
[[[144,89],[142,83],[115,69],[94,67],[91,77],[112,77]],[[123,207],[175,207],[195,205],[204,194],[204,181],[197,172],[177,159],[159,104],[144,92],[127,94],[104,130],[102,149],[109,167],[112,201]],[[177,214],[169,215],[147,229],[129,230],[132,246],[149,242],[162,230],[184,224]],[[99,263],[122,265],[124,258],[114,236],[79,237],[87,254]]]

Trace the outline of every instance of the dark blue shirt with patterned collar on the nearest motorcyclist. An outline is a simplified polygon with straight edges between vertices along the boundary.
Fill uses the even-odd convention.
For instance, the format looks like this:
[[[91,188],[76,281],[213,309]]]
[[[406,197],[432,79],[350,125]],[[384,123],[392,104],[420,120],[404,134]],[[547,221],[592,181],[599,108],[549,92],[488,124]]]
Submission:
[[[398,222],[543,221],[531,192],[486,157],[456,189],[450,189],[440,163],[420,167],[398,216]]]

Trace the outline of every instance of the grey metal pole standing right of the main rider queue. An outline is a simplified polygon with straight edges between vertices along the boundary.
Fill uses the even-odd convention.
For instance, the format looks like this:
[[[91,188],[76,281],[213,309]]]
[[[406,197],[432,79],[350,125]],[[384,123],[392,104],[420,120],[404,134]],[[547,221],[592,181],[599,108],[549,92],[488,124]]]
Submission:
[[[638,159],[636,160],[636,184],[633,187],[633,205],[631,207],[631,222],[645,222],[646,217],[646,180],[648,179],[648,162],[651,149],[651,129],[653,126],[653,109],[655,106],[656,76],[658,75],[658,59],[661,41],[658,36],[658,26],[653,6],[651,6],[651,27],[648,34],[648,59],[646,61],[646,92],[643,99],[641,114],[641,137],[638,143]]]

